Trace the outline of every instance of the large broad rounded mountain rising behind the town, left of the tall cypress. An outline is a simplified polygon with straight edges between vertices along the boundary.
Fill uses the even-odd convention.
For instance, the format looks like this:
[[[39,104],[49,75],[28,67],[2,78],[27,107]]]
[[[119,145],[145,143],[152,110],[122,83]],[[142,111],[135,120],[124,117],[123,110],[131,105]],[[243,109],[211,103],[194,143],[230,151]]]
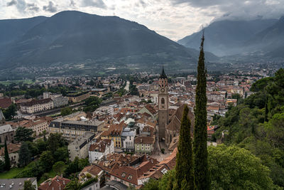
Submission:
[[[85,61],[135,63],[143,67],[197,62],[196,50],[170,41],[146,26],[117,16],[79,11],[62,11],[46,18],[6,47],[0,55],[2,67]],[[208,53],[208,58],[217,57]]]

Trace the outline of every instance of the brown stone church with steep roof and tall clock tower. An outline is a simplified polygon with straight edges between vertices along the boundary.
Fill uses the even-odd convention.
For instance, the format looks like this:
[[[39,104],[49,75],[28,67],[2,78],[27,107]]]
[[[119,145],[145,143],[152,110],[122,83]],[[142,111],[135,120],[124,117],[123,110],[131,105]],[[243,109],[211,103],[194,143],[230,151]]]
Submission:
[[[163,68],[159,78],[159,93],[158,93],[158,137],[159,141],[164,141],[169,147],[175,137],[180,132],[180,124],[182,120],[182,112],[185,104],[180,105],[175,113],[169,116],[169,95],[168,95],[168,77],[165,75]],[[193,132],[195,115],[188,112],[187,115],[191,122],[191,132]],[[191,135],[191,134],[189,134]],[[177,138],[175,138],[177,139]],[[178,141],[176,142],[176,144]]]

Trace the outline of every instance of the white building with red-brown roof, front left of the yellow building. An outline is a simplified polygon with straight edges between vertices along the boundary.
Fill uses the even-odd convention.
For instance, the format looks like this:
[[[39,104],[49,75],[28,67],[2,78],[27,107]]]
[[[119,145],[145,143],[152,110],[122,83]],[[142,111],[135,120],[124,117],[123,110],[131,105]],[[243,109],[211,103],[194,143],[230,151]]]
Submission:
[[[114,154],[114,141],[111,139],[102,139],[99,142],[89,146],[89,163],[101,159],[108,154]]]

